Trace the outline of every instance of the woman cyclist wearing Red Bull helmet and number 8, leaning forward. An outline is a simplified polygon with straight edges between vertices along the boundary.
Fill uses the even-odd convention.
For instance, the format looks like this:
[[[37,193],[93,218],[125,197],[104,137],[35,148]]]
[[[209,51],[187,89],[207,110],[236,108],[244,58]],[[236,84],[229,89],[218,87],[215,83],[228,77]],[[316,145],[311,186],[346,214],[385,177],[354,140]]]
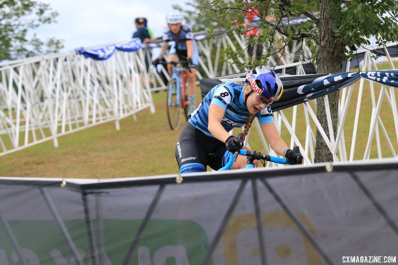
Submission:
[[[206,165],[214,170],[222,168],[228,162],[226,151],[234,153],[243,146],[243,142],[228,132],[234,127],[245,126],[243,134],[246,136],[255,117],[259,119],[271,148],[285,156],[289,164],[301,164],[300,152],[293,154],[273,123],[269,105],[277,101],[282,92],[281,80],[274,70],[266,66],[251,70],[244,86],[226,82],[212,88],[179,136],[175,152],[179,172],[206,171]],[[210,157],[209,154],[216,156]],[[258,166],[258,160],[256,162]],[[245,165],[246,157],[238,156],[232,169],[244,168]]]

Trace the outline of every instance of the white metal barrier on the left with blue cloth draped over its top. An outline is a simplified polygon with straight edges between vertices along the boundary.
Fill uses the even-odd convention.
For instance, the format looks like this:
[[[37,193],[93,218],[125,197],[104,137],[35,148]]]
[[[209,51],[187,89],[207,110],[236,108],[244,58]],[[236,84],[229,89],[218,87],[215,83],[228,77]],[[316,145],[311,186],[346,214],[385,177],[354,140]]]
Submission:
[[[0,64],[0,156],[154,104],[143,52],[97,61],[75,52]],[[141,73],[141,74],[140,74]],[[143,82],[142,82],[143,81]]]

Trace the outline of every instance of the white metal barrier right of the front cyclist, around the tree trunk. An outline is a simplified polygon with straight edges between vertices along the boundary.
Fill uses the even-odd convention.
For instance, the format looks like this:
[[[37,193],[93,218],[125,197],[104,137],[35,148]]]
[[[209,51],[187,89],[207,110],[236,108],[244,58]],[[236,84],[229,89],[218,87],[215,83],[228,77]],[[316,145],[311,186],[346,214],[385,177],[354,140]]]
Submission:
[[[387,47],[396,46],[396,43],[388,44]],[[371,51],[377,49],[367,48],[358,51],[358,54],[364,54],[363,64],[361,71],[372,71],[382,70],[377,68],[377,64],[374,58],[372,58]],[[386,60],[389,64],[390,69],[395,69],[394,62],[390,57],[386,48]],[[298,66],[297,75],[304,74],[304,69],[301,63],[294,63],[284,66],[276,66],[275,69],[286,69],[289,66]],[[347,69],[349,69],[349,62],[347,63]],[[284,73],[284,70],[283,70]],[[220,77],[222,81],[243,81],[241,74],[230,75],[227,78]],[[281,77],[283,80],[283,76]],[[357,84],[357,83],[355,83]],[[279,134],[282,134],[283,130],[287,130],[290,134],[290,142],[287,141],[289,147],[300,146],[300,151],[304,156],[304,164],[314,163],[315,153],[315,138],[316,129],[322,134],[330,152],[334,155],[334,162],[352,162],[356,153],[363,154],[362,159],[367,161],[371,158],[397,158],[398,150],[398,113],[396,105],[396,95],[394,87],[386,87],[363,78],[359,81],[359,86],[355,90],[355,84],[347,88],[340,90],[340,101],[339,101],[339,113],[338,113],[338,133],[334,135],[331,126],[331,114],[328,104],[328,96],[318,98],[316,100],[308,101],[300,105],[295,105],[292,108],[277,111],[274,113],[274,122],[277,125]],[[364,91],[364,85],[369,84],[369,90]],[[351,102],[352,95],[357,93],[356,101]],[[371,107],[371,117],[361,116],[361,102],[363,99],[371,99],[371,105],[365,107]],[[326,136],[324,129],[320,126],[320,123],[316,117],[316,101],[324,100],[326,106],[326,115],[329,121],[328,132],[330,137]],[[351,104],[350,104],[351,103]],[[350,107],[351,105],[351,107]],[[354,106],[356,106],[354,108]],[[384,107],[384,108],[383,108]],[[383,114],[380,114],[380,110],[383,109]],[[285,114],[289,113],[289,115]],[[355,113],[355,119],[347,120],[348,113]],[[359,119],[362,118],[361,126],[359,126]],[[385,121],[387,120],[387,121]],[[383,123],[384,121],[384,123]],[[255,128],[261,138],[264,150],[276,156],[277,154],[270,149],[269,144],[265,141],[261,127],[257,119],[254,120]],[[305,123],[305,135],[300,137],[297,133],[297,123]],[[352,133],[344,133],[350,127],[353,127]],[[252,127],[253,128],[253,127]],[[251,130],[251,129],[250,129]],[[366,138],[364,136],[359,142],[357,138],[359,133],[367,131]],[[253,132],[252,132],[253,133]],[[249,133],[250,135],[250,133]],[[248,143],[249,137],[246,137],[246,146],[250,147]],[[287,138],[285,138],[287,140]],[[364,143],[363,143],[364,142]],[[375,148],[376,152],[371,156],[371,148]],[[388,152],[382,152],[382,150],[388,150]],[[358,159],[358,158],[357,158]],[[279,164],[268,163],[267,166],[282,166]]]

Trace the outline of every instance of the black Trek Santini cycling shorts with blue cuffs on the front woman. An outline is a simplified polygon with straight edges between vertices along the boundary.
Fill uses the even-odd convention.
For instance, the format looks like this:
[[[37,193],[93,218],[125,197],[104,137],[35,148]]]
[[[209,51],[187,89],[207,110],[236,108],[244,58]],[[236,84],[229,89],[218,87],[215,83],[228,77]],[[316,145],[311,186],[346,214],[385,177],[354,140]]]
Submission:
[[[227,162],[225,143],[207,136],[189,122],[179,135],[175,154],[180,173],[206,171],[206,166],[219,170]]]

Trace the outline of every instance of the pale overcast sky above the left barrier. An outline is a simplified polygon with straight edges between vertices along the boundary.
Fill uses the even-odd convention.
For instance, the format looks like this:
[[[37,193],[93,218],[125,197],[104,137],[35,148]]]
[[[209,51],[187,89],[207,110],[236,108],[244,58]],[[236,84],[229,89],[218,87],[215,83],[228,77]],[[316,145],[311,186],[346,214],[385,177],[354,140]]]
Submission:
[[[146,17],[155,36],[166,27],[166,14],[173,4],[184,6],[187,0],[39,0],[59,13],[57,23],[41,25],[37,36],[64,39],[64,49],[90,47],[124,41],[136,30],[134,20]]]

